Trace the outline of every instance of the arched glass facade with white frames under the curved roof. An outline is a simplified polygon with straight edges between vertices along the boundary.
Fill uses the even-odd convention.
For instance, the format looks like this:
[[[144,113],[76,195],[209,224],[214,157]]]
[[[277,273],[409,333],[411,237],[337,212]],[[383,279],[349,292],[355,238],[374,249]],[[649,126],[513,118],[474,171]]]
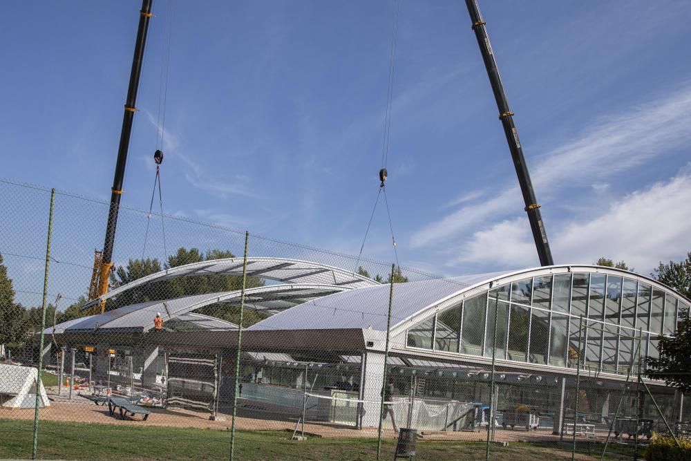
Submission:
[[[468,297],[408,329],[407,344],[484,357],[495,352],[497,359],[569,368],[580,361],[626,374],[637,362],[637,329],[643,330],[641,355],[656,357],[658,336],[672,335],[689,310],[687,301],[650,283],[569,272],[528,277]]]

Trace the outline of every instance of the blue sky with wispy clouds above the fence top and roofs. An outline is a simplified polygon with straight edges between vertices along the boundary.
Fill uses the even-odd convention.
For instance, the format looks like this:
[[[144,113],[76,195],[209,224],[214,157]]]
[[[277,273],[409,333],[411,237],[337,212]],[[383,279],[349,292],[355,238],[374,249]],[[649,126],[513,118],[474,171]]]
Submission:
[[[176,2],[164,211],[357,254],[379,186],[394,5]],[[2,3],[0,176],[108,200],[139,7]],[[154,5],[122,198],[140,209],[166,7]],[[608,256],[647,274],[682,258],[691,3],[480,8],[556,263]],[[404,0],[387,164],[401,264],[444,275],[538,264],[497,115],[464,3]],[[392,261],[381,205],[364,254]]]

